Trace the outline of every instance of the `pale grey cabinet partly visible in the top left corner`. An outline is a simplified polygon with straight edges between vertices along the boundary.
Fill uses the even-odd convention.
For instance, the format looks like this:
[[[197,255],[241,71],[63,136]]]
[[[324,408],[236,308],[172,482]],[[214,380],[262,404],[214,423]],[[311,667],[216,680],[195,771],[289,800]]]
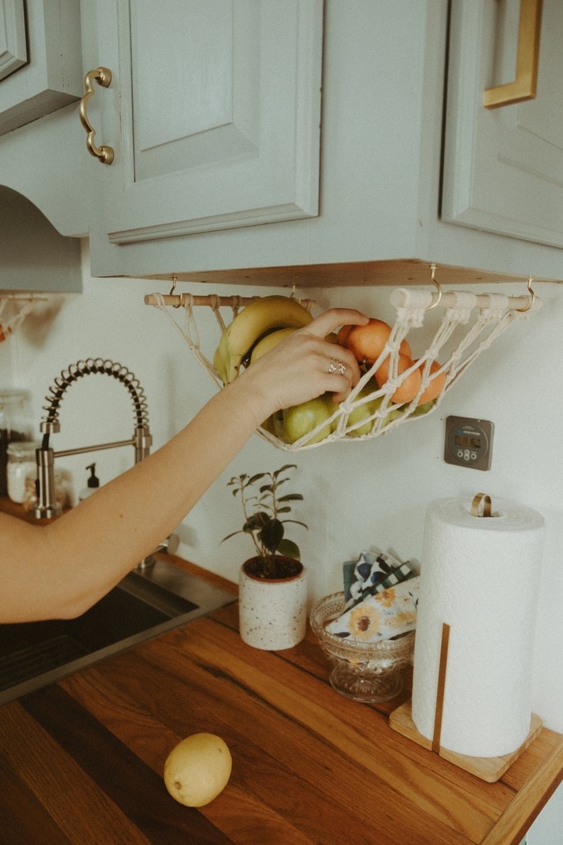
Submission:
[[[0,134],[82,95],[76,0],[0,0]]]

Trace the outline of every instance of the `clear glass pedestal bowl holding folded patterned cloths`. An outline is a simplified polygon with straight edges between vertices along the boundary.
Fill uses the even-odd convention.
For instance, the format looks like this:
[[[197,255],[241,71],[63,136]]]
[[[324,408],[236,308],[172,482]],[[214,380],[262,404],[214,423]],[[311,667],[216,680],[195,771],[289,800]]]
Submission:
[[[344,592],[325,596],[311,610],[311,628],[330,664],[330,683],[354,701],[389,701],[403,690],[403,668],[414,654],[414,630],[391,640],[349,641],[325,627],[343,611]]]

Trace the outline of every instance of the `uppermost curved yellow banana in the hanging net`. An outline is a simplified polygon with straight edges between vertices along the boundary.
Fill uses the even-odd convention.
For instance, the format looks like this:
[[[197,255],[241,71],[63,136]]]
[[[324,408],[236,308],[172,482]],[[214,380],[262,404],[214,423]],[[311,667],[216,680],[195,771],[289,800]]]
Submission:
[[[226,327],[215,351],[214,368],[223,384],[236,378],[242,360],[262,335],[275,329],[300,329],[311,320],[307,309],[290,297],[262,297],[247,305]]]

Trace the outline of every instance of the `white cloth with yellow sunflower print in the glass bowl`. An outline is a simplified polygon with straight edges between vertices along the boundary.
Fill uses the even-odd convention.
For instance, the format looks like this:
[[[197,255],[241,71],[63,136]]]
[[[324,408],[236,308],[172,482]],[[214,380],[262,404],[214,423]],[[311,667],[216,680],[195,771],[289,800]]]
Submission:
[[[416,628],[420,575],[375,596],[367,596],[327,625],[327,630],[349,641],[377,642]]]

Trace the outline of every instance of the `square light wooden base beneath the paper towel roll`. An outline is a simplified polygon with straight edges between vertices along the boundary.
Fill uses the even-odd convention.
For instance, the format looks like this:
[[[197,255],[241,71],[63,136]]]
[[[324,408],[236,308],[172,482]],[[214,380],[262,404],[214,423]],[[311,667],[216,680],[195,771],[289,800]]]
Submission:
[[[389,717],[389,725],[394,731],[401,733],[407,739],[412,739],[413,742],[422,745],[423,748],[432,750],[432,740],[426,739],[414,726],[410,701],[405,701],[397,710],[392,711]],[[533,740],[536,739],[542,727],[541,719],[533,713],[530,720],[530,733],[528,733],[528,737],[524,740],[520,748],[512,751],[512,754],[507,754],[503,757],[470,757],[464,754],[457,754],[455,751],[448,751],[447,748],[442,748],[442,746],[440,746],[438,753],[444,760],[449,760],[455,766],[470,772],[482,781],[494,783],[505,773],[506,769],[512,766],[512,763],[517,760],[522,754],[522,751],[526,750],[528,745],[533,743]]]

